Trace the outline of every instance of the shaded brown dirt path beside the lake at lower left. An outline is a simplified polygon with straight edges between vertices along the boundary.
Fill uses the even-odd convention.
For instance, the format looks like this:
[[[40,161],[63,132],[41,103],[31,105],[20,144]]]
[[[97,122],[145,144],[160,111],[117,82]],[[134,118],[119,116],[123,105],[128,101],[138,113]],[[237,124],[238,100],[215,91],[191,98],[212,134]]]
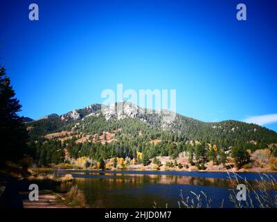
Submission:
[[[24,208],[69,208],[67,205],[58,203],[57,197],[46,191],[39,191],[38,201],[30,201],[28,198],[28,192],[22,192],[21,197]]]

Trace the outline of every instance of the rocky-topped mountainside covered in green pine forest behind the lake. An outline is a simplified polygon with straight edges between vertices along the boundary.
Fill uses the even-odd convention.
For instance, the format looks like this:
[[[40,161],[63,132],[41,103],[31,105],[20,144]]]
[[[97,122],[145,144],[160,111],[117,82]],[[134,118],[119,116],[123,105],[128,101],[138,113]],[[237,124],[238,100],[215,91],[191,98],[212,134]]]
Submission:
[[[165,122],[163,113],[145,112],[132,103],[120,105],[123,112],[119,113],[118,104],[115,110],[111,107],[101,110],[95,104],[26,123],[29,146],[37,163],[45,166],[69,158],[89,157],[98,162],[122,157],[148,164],[152,157],[175,159],[186,152],[190,153],[190,162],[197,161],[201,169],[199,164],[209,160],[208,153],[214,162],[225,163],[224,153],[238,148],[242,151],[239,157],[246,156],[242,163],[247,163],[247,150],[256,151],[277,143],[277,133],[255,124],[232,120],[205,123],[180,114],[174,121]],[[217,153],[213,146],[217,147]],[[276,146],[273,152],[275,149]]]

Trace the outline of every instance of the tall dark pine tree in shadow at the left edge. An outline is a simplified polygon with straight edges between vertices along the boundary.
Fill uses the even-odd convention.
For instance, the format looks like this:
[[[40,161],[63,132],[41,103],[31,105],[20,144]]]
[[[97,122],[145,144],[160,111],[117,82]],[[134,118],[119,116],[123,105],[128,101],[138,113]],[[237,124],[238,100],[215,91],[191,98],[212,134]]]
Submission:
[[[0,164],[7,160],[18,161],[26,153],[27,131],[22,123],[23,118],[17,112],[21,111],[19,100],[10,85],[6,70],[0,68]]]

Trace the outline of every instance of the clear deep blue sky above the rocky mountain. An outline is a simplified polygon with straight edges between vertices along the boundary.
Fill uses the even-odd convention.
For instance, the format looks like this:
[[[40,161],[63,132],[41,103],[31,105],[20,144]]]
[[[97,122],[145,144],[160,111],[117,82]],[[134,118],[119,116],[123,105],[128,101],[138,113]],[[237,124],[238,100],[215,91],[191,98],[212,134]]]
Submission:
[[[117,83],[176,89],[177,112],[202,121],[259,119],[277,114],[276,11],[272,0],[1,0],[0,63],[33,119],[101,103]]]

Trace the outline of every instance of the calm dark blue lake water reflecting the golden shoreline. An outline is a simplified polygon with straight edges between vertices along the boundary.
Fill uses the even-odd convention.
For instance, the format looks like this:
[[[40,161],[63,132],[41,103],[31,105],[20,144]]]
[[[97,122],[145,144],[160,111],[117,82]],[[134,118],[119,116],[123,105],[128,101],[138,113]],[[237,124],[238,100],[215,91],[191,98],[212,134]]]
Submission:
[[[233,183],[227,173],[152,171],[67,171],[84,192],[90,207],[179,207],[180,194],[203,191],[212,199],[211,207],[233,207],[229,194]],[[258,173],[238,173],[242,178],[260,180]],[[269,173],[277,178],[276,173]],[[69,189],[72,185],[63,185]]]

